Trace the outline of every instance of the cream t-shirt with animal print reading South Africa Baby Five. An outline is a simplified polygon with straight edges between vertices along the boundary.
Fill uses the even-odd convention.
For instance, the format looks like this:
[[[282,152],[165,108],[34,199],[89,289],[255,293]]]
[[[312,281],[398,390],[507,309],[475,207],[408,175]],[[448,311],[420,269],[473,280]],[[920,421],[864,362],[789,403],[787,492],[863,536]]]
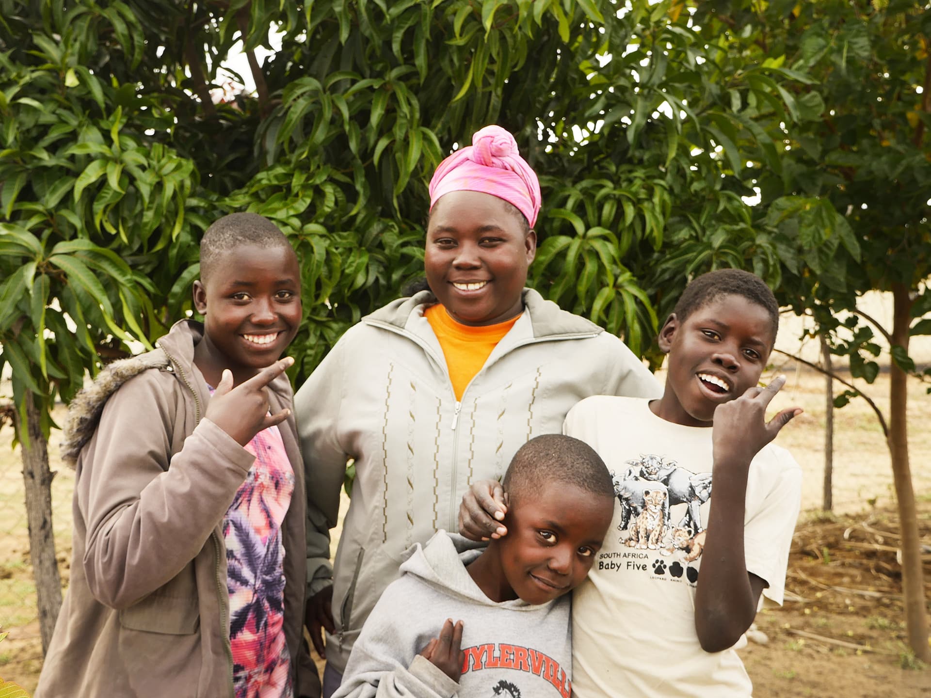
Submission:
[[[712,493],[711,429],[660,419],[641,398],[596,396],[563,433],[598,451],[614,477],[614,520],[573,593],[573,695],[748,698],[735,648],[708,653],[695,632],[695,583]],[[750,463],[747,569],[782,604],[802,470],[769,444]],[[761,601],[764,599],[761,599]]]

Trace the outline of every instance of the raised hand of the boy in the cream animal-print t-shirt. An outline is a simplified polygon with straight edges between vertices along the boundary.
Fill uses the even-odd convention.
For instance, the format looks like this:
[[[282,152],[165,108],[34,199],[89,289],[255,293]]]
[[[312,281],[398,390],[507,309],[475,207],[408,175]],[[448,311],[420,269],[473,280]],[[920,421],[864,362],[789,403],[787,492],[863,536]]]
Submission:
[[[779,376],[766,387],[749,388],[742,396],[714,410],[711,441],[715,465],[748,468],[753,457],[776,438],[779,430],[802,414],[801,408],[783,409],[766,422],[766,407],[785,384],[786,377]]]

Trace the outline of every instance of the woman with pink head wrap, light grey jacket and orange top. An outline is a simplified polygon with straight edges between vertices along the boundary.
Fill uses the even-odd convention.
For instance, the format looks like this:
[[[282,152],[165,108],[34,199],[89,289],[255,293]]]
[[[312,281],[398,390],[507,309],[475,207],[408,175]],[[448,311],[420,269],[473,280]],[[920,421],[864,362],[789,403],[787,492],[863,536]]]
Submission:
[[[413,657],[386,661],[399,645],[350,659],[404,550],[456,530],[469,485],[500,479],[532,436],[559,433],[578,400],[661,393],[617,337],[524,288],[540,184],[511,134],[479,130],[440,163],[429,192],[429,289],[363,317],[295,398],[309,499],[306,622],[317,651],[327,630],[324,696],[344,673],[339,696],[370,695],[362,677],[384,676],[398,662],[410,666],[404,680],[435,679],[416,676],[424,663]],[[327,528],[350,459],[353,496],[331,572]],[[489,641],[463,620],[464,647]]]

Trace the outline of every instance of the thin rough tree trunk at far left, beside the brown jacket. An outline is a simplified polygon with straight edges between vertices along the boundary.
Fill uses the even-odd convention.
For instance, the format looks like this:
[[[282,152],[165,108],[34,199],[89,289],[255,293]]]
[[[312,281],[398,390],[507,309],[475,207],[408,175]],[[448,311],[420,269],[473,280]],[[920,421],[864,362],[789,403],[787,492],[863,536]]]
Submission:
[[[14,410],[13,420],[17,432],[22,434],[23,425],[19,410]],[[33,394],[27,392],[25,432],[29,444],[22,447],[22,478],[26,486],[29,556],[33,562],[42,653],[45,654],[61,610],[61,576],[55,558],[55,536],[52,532],[51,486],[55,474],[48,469],[48,442],[42,434],[40,420]]]

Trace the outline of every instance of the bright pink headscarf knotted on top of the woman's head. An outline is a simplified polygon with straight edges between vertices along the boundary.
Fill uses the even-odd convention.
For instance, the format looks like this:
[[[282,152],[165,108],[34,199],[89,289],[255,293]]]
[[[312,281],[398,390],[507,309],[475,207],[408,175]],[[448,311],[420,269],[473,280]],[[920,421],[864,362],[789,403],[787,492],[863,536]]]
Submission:
[[[450,192],[482,192],[513,204],[531,227],[540,211],[540,182],[520,157],[518,143],[500,126],[486,126],[472,136],[472,145],[447,157],[430,180],[430,209]]]

